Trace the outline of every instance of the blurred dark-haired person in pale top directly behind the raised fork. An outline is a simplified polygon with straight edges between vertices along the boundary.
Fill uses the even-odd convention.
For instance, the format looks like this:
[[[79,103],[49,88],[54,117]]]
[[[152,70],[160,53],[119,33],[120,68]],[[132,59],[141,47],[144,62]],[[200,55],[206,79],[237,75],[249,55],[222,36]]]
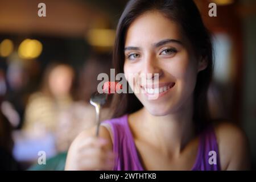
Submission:
[[[90,105],[89,100],[93,92],[96,92],[98,83],[97,76],[106,73],[110,77],[111,55],[108,53],[96,53],[89,57],[82,66],[79,74],[79,86],[77,98],[67,110],[63,110],[59,117],[56,130],[57,150],[67,151],[72,141],[81,131],[96,125],[96,111]],[[101,112],[101,121],[109,119],[111,112],[108,109],[110,100],[104,105]],[[68,133],[68,135],[67,135]]]

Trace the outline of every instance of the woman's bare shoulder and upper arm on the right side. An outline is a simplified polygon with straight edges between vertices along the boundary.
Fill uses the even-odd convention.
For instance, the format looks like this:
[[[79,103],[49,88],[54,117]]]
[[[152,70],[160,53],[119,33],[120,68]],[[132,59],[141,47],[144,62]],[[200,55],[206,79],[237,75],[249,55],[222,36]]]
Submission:
[[[222,170],[250,169],[249,142],[245,132],[233,123],[214,124]]]

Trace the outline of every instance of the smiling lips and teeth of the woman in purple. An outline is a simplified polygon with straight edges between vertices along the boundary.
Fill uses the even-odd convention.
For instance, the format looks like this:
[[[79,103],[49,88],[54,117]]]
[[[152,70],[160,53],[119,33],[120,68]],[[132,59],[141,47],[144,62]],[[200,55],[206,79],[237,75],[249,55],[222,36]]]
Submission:
[[[174,87],[175,82],[159,84],[159,85],[146,85],[141,86],[143,90],[146,91],[147,94],[160,94],[170,90]]]

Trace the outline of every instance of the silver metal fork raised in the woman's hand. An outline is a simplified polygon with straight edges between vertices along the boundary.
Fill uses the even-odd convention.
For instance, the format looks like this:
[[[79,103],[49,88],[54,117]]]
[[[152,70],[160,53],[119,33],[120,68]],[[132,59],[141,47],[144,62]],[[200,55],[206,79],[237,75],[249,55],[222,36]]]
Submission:
[[[95,107],[96,110],[96,123],[97,123],[97,130],[96,130],[96,137],[98,137],[98,133],[100,130],[100,110],[101,106],[105,104],[108,94],[106,93],[98,93],[94,92],[90,97],[90,104]]]

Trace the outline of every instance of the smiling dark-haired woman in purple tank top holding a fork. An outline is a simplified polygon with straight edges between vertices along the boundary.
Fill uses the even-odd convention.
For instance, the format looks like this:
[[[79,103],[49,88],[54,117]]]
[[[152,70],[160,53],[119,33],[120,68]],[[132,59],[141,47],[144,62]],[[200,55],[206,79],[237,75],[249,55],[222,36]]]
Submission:
[[[229,123],[210,124],[212,44],[193,1],[130,1],[119,19],[114,65],[126,79],[137,73],[131,80],[158,73],[155,89],[164,92],[149,100],[152,85],[127,79],[146,93],[115,96],[114,119],[102,124],[100,138],[92,129],[74,140],[65,169],[249,168],[245,134]]]

